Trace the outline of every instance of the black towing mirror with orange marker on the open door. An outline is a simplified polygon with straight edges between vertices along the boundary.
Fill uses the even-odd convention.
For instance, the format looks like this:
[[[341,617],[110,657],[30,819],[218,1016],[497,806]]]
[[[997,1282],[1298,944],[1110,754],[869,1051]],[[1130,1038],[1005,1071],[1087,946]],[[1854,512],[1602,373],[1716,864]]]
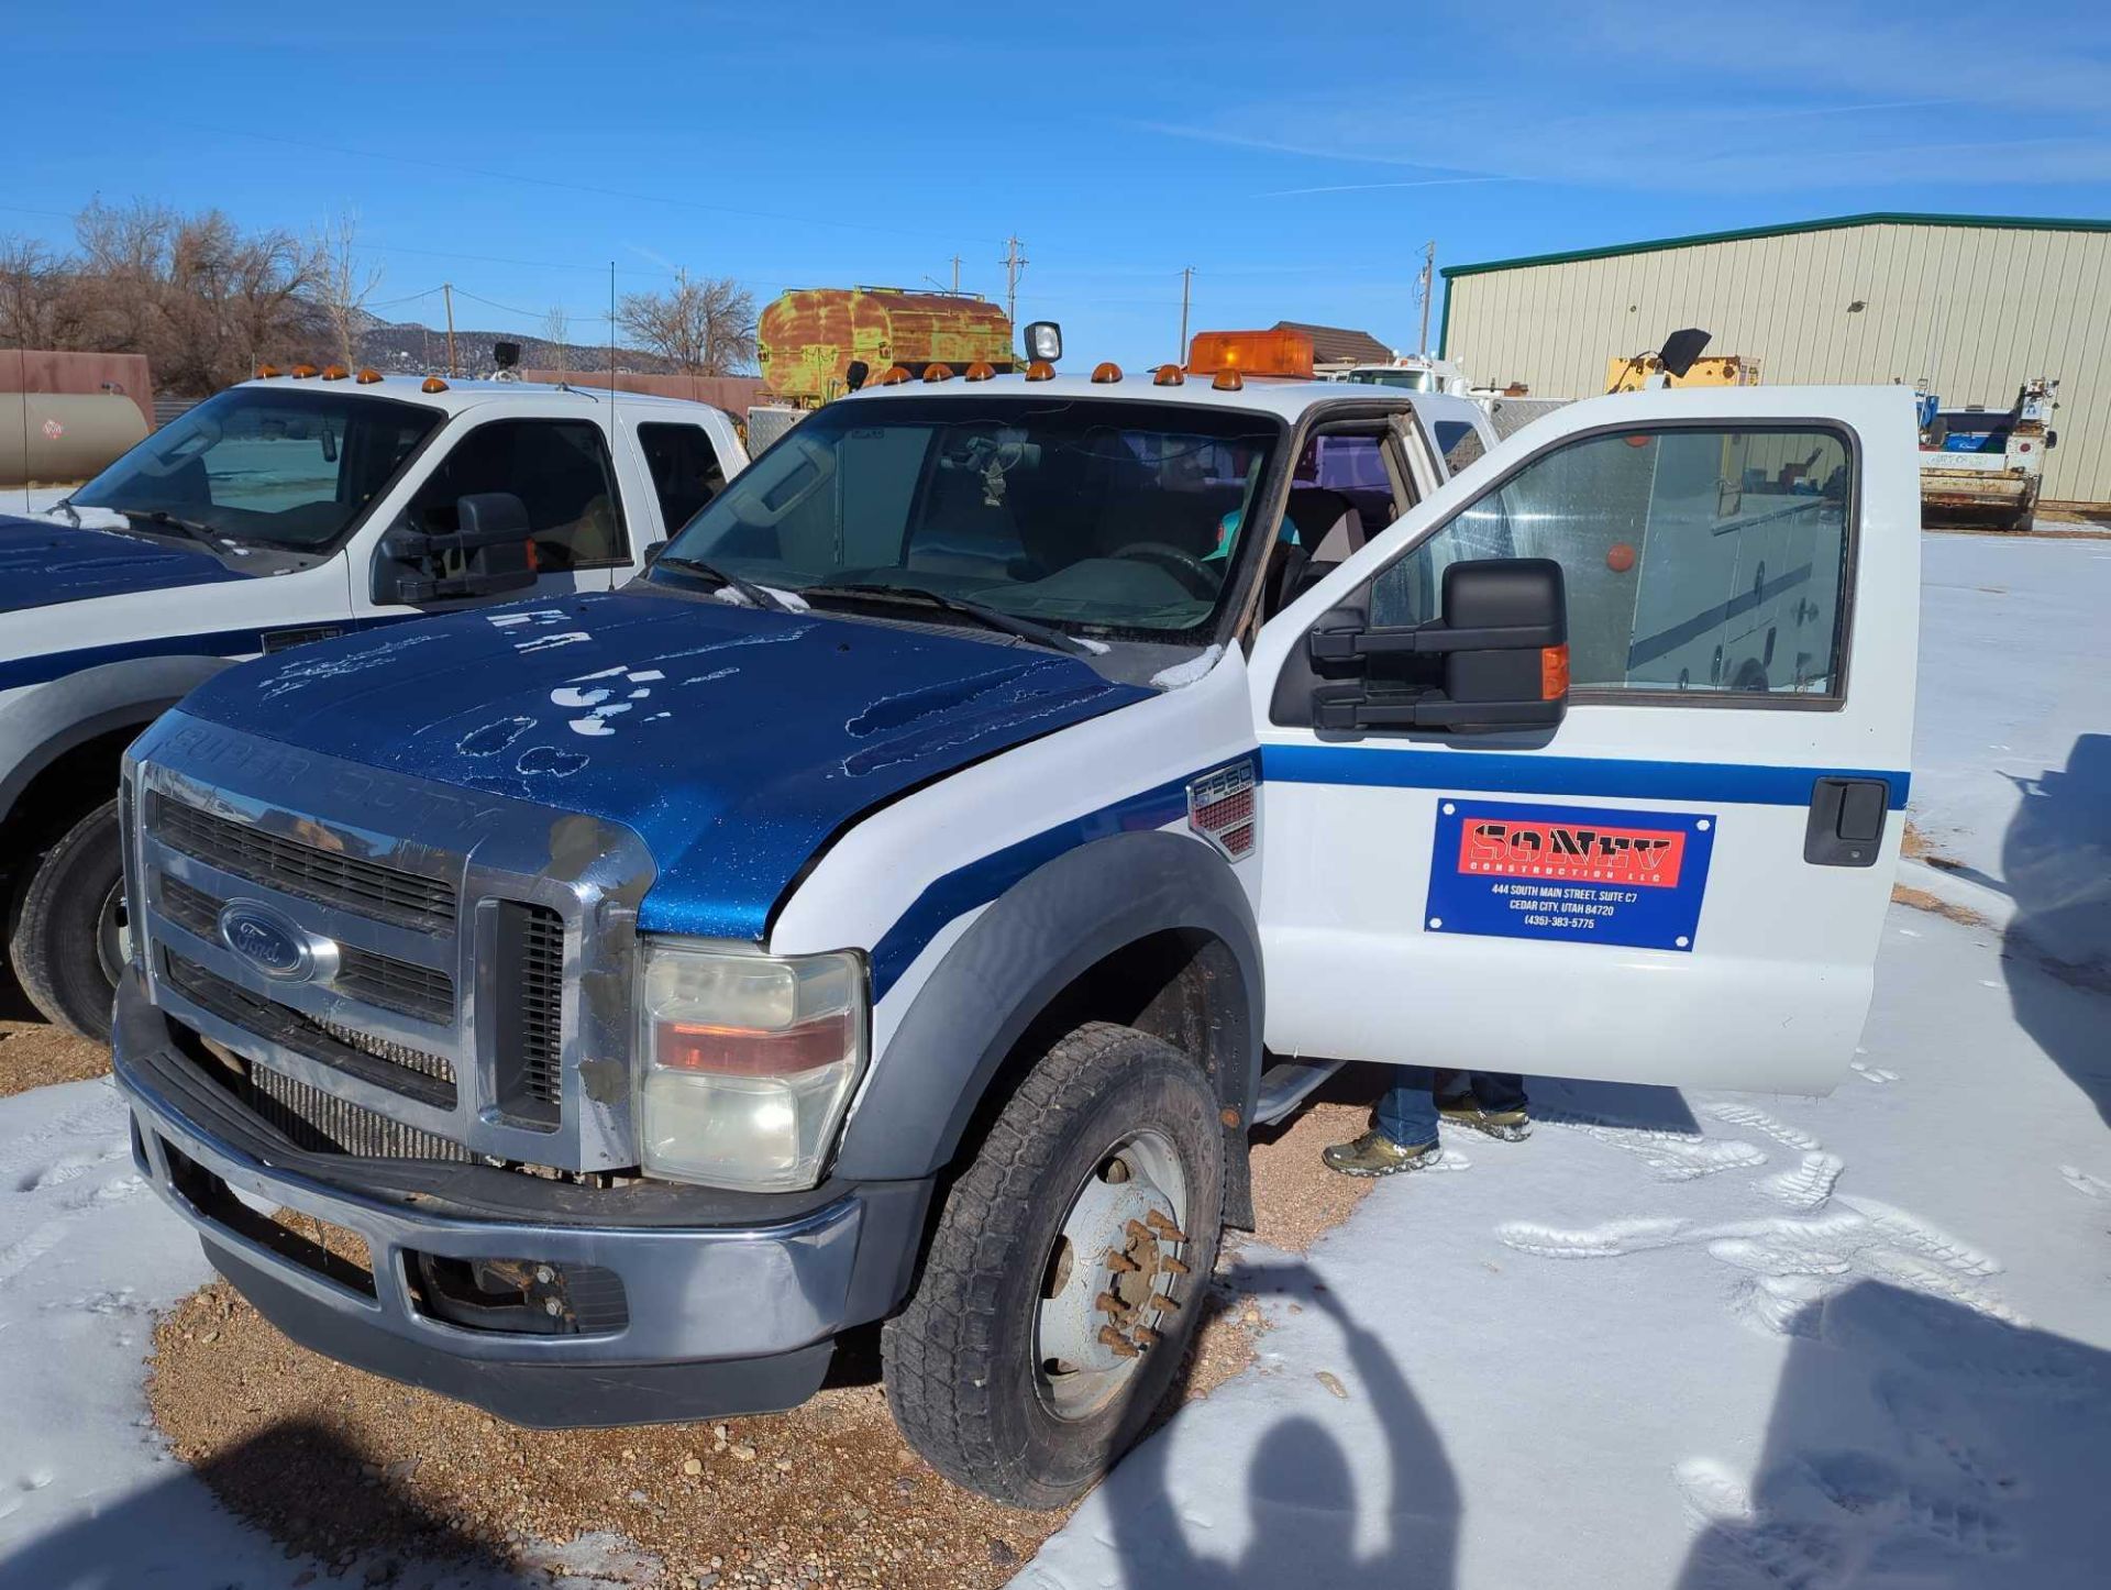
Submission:
[[[1374,629],[1364,606],[1349,604],[1319,619],[1305,644],[1319,733],[1482,735],[1554,728],[1568,712],[1568,598],[1549,557],[1452,564],[1442,617]]]

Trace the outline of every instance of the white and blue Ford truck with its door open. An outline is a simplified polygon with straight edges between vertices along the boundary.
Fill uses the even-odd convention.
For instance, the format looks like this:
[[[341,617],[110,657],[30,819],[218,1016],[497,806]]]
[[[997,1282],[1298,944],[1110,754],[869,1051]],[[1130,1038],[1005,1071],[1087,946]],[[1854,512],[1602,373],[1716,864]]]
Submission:
[[[927,376],[621,591],[131,747],[137,1157],[296,1341],[578,1425],[783,1408],[876,1332],[937,1470],[1053,1506],[1319,1062],[1843,1075],[1908,393],[1592,399],[1435,484],[1444,395]]]

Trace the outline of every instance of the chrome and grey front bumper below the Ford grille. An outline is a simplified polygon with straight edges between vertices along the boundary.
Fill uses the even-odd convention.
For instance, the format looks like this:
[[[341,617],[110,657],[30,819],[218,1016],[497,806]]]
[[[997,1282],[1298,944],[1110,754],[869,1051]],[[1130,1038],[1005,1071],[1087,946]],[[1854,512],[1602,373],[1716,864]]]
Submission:
[[[315,1351],[513,1423],[794,1406],[821,1385],[834,1337],[908,1288],[929,1182],[830,1189],[775,1220],[758,1212],[783,1199],[648,1187],[597,1218],[595,1195],[564,1182],[293,1147],[177,1047],[137,973],[118,988],[114,1039],[139,1170],[260,1313]],[[277,1239],[272,1210],[359,1237],[365,1263]],[[452,1324],[420,1290],[420,1254],[614,1275],[621,1318],[572,1335]]]

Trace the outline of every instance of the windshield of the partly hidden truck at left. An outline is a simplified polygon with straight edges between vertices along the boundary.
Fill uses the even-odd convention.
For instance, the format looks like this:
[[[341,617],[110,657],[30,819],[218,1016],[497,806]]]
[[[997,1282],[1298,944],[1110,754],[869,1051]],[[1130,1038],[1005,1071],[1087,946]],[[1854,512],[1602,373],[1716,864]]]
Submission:
[[[234,386],[165,424],[74,503],[321,551],[445,418],[418,403]]]

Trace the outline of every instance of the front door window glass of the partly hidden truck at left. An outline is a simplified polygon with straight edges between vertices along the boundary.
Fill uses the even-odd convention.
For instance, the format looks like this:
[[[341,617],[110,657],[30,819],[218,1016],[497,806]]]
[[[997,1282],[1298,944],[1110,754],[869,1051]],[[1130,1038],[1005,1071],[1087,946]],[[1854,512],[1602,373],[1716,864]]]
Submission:
[[[621,564],[623,500],[602,429],[587,420],[492,420],[464,435],[412,498],[420,530],[458,530],[454,505],[477,492],[513,492],[528,509],[545,574]]]

